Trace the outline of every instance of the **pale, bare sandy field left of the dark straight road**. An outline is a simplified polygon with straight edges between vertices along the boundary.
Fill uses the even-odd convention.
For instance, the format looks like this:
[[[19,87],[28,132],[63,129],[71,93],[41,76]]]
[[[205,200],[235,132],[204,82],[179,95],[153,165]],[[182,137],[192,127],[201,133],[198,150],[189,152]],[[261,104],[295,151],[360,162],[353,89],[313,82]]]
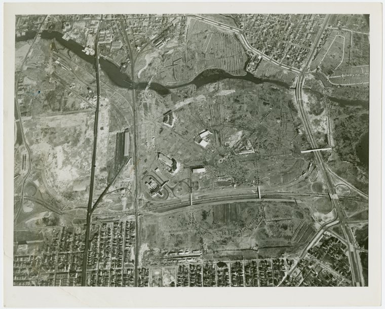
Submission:
[[[23,121],[33,156],[33,175],[45,198],[87,201],[92,126],[93,114],[88,112],[68,114],[65,119],[52,116]]]

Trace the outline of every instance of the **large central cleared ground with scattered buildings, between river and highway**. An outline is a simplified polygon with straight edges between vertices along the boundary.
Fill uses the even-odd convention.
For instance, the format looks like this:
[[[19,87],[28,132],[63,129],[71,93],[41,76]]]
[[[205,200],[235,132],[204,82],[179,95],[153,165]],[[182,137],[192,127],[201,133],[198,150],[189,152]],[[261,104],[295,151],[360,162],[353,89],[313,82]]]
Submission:
[[[298,153],[305,141],[292,94],[280,86],[224,80],[197,90],[186,87],[164,98],[141,93],[139,100],[143,119],[139,173],[153,175],[160,184],[169,180],[165,188],[175,192],[169,199],[188,194],[188,187],[181,190],[188,179],[194,190],[274,186],[289,184],[308,168]],[[170,109],[172,127],[163,123],[162,116]],[[207,144],[201,145],[200,134],[205,131]],[[177,162],[175,172],[158,158],[159,153]],[[191,174],[195,166],[204,166],[206,172]]]

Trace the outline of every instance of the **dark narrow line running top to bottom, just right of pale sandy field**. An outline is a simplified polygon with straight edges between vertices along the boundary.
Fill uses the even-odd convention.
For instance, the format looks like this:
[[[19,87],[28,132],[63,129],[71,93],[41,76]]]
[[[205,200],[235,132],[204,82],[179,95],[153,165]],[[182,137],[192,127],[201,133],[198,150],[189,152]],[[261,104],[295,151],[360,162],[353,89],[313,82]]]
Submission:
[[[95,71],[96,71],[97,100],[96,100],[95,123],[94,123],[94,148],[92,151],[92,163],[91,163],[90,195],[88,198],[88,206],[87,206],[86,241],[85,241],[85,247],[84,247],[84,253],[83,253],[83,265],[82,265],[82,286],[86,286],[86,280],[87,280],[87,257],[88,257],[88,249],[90,246],[91,218],[92,218],[92,211],[93,211],[92,206],[93,206],[93,197],[94,197],[94,180],[95,180],[95,167],[96,167],[95,162],[96,162],[99,105],[100,105],[98,41],[99,41],[99,32],[100,32],[101,25],[102,25],[102,21],[100,21],[98,31],[95,35]]]

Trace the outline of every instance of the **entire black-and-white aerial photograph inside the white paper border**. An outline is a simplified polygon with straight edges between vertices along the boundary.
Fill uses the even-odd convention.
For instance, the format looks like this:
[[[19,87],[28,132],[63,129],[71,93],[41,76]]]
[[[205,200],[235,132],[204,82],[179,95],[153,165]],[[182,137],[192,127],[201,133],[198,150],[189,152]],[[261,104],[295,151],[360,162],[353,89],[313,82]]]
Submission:
[[[369,15],[17,15],[14,79],[14,286],[368,286]]]

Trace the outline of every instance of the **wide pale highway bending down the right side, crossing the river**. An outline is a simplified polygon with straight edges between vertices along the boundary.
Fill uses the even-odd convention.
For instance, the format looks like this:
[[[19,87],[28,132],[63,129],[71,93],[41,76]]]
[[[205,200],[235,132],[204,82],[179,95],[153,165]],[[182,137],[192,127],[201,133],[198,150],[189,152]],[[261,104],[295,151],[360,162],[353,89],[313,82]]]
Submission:
[[[310,53],[309,59],[307,60],[307,62],[305,64],[305,68],[308,68],[311,61],[312,61],[314,51],[318,45],[320,37],[321,37],[321,35],[322,35],[326,25],[327,25],[329,18],[330,18],[330,15],[327,15],[325,18],[325,21],[321,27],[321,30],[318,33],[316,41],[314,43],[313,49]],[[307,118],[307,114],[306,114],[304,106],[303,106],[302,87],[303,87],[303,83],[304,83],[305,72],[306,72],[306,70],[302,71],[298,75],[297,85],[295,88],[295,95],[296,95],[302,123],[303,123],[304,129],[306,131],[306,136],[309,139],[311,146],[313,148],[318,148],[317,142],[313,136],[313,132],[312,132],[312,128],[311,128],[310,123],[309,123],[309,119]],[[351,233],[349,227],[347,226],[347,220],[346,220],[346,218],[342,212],[341,206],[340,206],[339,201],[338,201],[338,196],[336,195],[336,192],[335,192],[334,183],[333,183],[331,176],[329,174],[329,170],[327,169],[327,167],[324,163],[324,160],[322,158],[322,154],[319,151],[316,151],[313,153],[314,153],[314,157],[317,161],[318,170],[321,172],[321,174],[323,175],[323,177],[325,179],[327,189],[328,189],[329,194],[331,196],[331,202],[333,204],[334,209],[337,212],[337,217],[340,221],[343,234],[349,243],[349,246],[348,246],[349,247],[349,260],[350,260],[351,268],[352,268],[353,283],[355,286],[360,285],[361,284],[361,278],[360,278],[360,272],[359,272],[359,267],[358,267],[358,262],[357,262],[357,255],[356,255],[356,251],[354,249],[354,238],[352,236],[352,233]]]

